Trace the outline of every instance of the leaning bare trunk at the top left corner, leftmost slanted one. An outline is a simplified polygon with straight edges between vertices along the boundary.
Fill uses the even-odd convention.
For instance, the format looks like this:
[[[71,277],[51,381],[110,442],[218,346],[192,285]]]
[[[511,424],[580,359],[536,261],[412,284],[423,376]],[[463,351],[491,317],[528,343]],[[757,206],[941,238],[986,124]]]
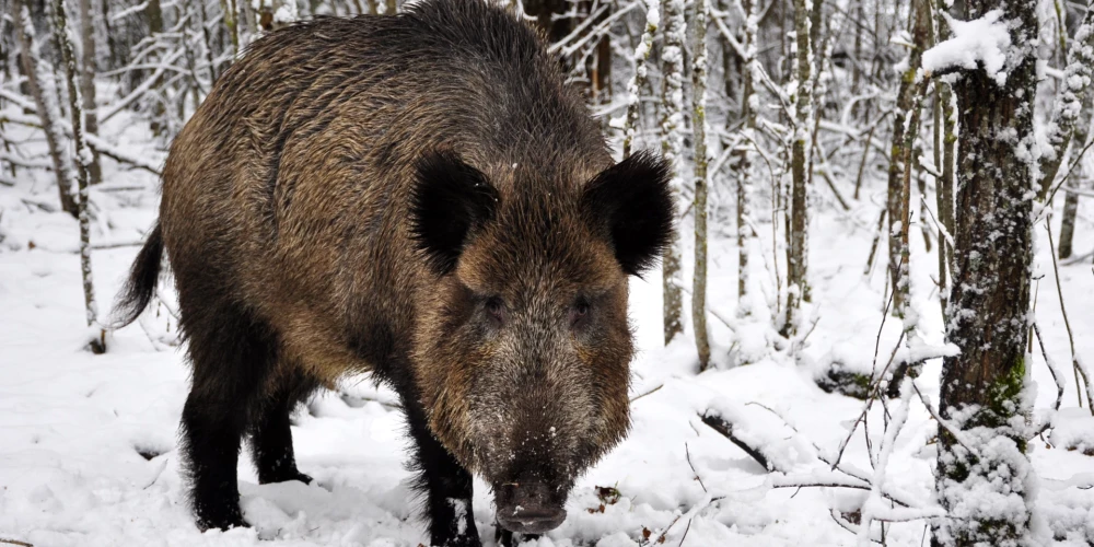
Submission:
[[[25,0],[12,2],[12,19],[15,21],[15,34],[20,48],[23,50],[23,71],[30,81],[34,106],[42,120],[42,132],[46,136],[54,174],[57,176],[57,191],[60,195],[61,209],[73,217],[78,216],[75,197],[72,195],[72,164],[66,152],[65,130],[61,127],[60,101],[57,98],[57,85],[54,70],[42,58],[42,44],[34,34],[34,23],[31,21],[31,10]]]

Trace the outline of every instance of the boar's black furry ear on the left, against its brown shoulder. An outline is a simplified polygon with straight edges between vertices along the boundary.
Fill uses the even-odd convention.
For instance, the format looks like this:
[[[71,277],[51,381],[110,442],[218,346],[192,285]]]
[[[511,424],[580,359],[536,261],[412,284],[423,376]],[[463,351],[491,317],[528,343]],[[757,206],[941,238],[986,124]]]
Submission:
[[[449,274],[473,232],[493,218],[498,191],[451,151],[424,154],[415,170],[410,236],[434,271]]]

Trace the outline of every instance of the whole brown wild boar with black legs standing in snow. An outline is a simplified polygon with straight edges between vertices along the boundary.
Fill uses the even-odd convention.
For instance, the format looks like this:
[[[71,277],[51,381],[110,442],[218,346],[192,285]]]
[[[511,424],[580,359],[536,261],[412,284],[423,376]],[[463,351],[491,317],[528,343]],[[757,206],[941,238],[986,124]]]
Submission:
[[[205,507],[235,492],[240,432],[260,479],[306,480],[288,412],[359,372],[403,398],[434,543],[478,542],[439,522],[468,472],[560,511],[628,428],[627,276],[666,241],[666,185],[614,165],[543,39],[477,0],[260,38],[172,144],[121,301],[131,321],[165,249],[199,522],[242,524]]]

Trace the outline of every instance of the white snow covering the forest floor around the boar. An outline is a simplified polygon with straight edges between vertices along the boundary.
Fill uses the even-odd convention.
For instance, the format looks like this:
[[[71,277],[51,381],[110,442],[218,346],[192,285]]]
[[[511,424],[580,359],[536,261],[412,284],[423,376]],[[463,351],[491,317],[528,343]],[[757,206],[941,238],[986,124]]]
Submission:
[[[136,127],[114,129],[123,133],[121,147],[147,137]],[[156,154],[162,160],[160,152],[146,155]],[[92,200],[93,238],[109,247],[93,255],[105,315],[136,244],[154,219],[158,196],[151,175],[104,162],[107,183],[92,190]],[[849,184],[843,186],[848,195]],[[826,187],[818,185],[816,191],[818,203],[830,199]],[[144,328],[132,325],[109,335],[106,354],[82,350],[86,329],[78,226],[63,213],[45,210],[56,201],[46,173],[22,170],[14,187],[0,186],[0,539],[80,547],[258,545],[266,539],[287,546],[414,547],[427,540],[414,516],[416,502],[403,467],[403,418],[388,404],[393,395],[366,377],[347,379],[342,393],[323,394],[294,417],[298,461],[315,485],[258,486],[251,463],[241,457],[243,507],[254,527],[198,532],[175,452],[188,369],[183,349],[164,344],[174,333],[174,319],[160,307],[146,314]],[[885,276],[880,266],[863,276],[863,267],[880,202],[880,196],[868,193],[850,212],[822,206],[814,216],[810,267],[815,304],[808,316],[816,327],[796,358],[771,349],[763,326],[737,325],[734,335],[711,318],[719,368],[696,374],[690,334],[662,347],[660,272],[635,280],[631,313],[642,351],[633,363],[631,391],[640,397],[632,404],[632,432],[583,477],[568,503],[566,523],[537,545],[856,544],[833,510],[853,521],[868,490],[778,487],[829,480],[861,486],[848,473],[874,476],[861,427],[842,455],[840,466],[848,473],[822,463],[836,456],[863,403],[823,392],[813,371],[833,360],[869,370],[874,361]],[[770,264],[770,220],[760,228],[768,232],[764,255]],[[711,245],[710,303],[720,316],[732,318],[736,251],[724,237],[733,229],[715,224],[714,231],[723,238]],[[682,233],[690,238],[689,230]],[[1076,253],[1094,247],[1090,203],[1080,210],[1078,234]],[[1070,349],[1043,226],[1037,241],[1038,276],[1044,275],[1036,282],[1037,321],[1068,382],[1059,427],[1031,443],[1039,480],[1038,526],[1046,535],[1068,537],[1062,545],[1089,545],[1094,542],[1094,457],[1083,451],[1094,452],[1094,422],[1086,409],[1074,408]],[[922,313],[924,340],[936,345],[942,340],[931,281],[936,259],[924,254],[921,240],[913,246],[913,300]],[[756,287],[769,291],[770,271],[761,260],[754,263]],[[1061,267],[1060,275],[1076,350],[1094,361],[1090,260]],[[899,328],[898,322],[886,322],[878,365]],[[763,357],[733,368],[731,351]],[[1039,351],[1033,362],[1038,407],[1047,408],[1056,388]],[[928,363],[917,381],[930,400],[938,397],[940,366]],[[891,409],[897,404],[888,403]],[[768,473],[703,424],[699,414],[711,407],[736,416],[746,428],[742,435],[764,444],[772,464],[789,474]],[[881,411],[875,405],[870,415],[874,451],[883,435]],[[885,492],[916,508],[909,510],[916,514],[936,511],[934,431],[929,412],[912,398],[885,470]],[[1074,444],[1079,450],[1064,450],[1073,439],[1080,440]],[[598,487],[615,488],[619,496]],[[485,543],[492,545],[492,508],[481,482],[476,484],[475,516]],[[886,542],[922,545],[926,526],[921,520],[887,526]]]

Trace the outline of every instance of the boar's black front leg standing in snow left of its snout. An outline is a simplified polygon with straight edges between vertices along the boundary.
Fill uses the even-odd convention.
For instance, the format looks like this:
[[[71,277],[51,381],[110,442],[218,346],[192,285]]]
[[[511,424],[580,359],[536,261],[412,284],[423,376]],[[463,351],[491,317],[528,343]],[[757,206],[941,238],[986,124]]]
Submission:
[[[419,474],[416,486],[426,496],[430,544],[439,547],[480,546],[472,510],[472,474],[433,437],[417,400],[404,397],[403,406],[415,443],[411,465]]]

